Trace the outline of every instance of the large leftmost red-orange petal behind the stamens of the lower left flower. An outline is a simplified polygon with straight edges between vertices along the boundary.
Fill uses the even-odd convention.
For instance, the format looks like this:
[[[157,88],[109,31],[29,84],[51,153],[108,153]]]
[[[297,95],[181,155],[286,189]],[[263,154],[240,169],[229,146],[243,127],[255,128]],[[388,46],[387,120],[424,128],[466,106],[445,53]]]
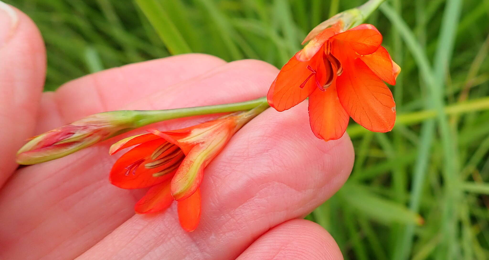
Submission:
[[[163,139],[148,141],[122,155],[112,166],[110,181],[117,187],[123,189],[138,189],[153,186],[170,179],[173,174],[153,177],[154,173],[161,171],[164,167],[147,169],[144,164],[151,162],[151,154],[162,143]]]

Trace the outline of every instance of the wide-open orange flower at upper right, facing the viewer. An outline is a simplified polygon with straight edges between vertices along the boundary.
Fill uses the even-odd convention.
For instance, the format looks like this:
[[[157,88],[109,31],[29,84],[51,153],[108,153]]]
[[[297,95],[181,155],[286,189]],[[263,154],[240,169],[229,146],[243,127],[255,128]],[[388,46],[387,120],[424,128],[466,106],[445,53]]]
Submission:
[[[400,67],[380,46],[371,24],[322,30],[280,70],[267,94],[270,106],[287,110],[309,97],[311,129],[317,138],[339,139],[348,120],[374,132],[394,127],[396,105],[383,81],[395,85]]]

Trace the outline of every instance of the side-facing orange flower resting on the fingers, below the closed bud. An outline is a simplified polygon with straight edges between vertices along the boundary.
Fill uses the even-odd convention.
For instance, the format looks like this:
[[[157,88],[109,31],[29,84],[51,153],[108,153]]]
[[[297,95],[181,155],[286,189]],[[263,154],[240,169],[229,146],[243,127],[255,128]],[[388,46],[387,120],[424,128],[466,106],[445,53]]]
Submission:
[[[151,187],[135,205],[139,214],[154,213],[178,201],[178,218],[186,231],[200,219],[204,168],[246,122],[260,111],[234,113],[191,127],[132,136],[114,143],[110,154],[136,145],[113,165],[111,183],[124,189]]]

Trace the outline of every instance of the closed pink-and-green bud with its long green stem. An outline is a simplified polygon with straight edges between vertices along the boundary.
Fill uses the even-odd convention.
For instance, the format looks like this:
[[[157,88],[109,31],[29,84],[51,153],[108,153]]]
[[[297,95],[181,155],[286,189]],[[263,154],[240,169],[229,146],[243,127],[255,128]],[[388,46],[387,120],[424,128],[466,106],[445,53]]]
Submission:
[[[211,106],[98,113],[32,138],[17,152],[17,163],[36,164],[62,158],[132,129],[164,120],[246,110],[251,112],[257,111],[254,108],[264,110],[267,107],[266,98],[260,98]]]

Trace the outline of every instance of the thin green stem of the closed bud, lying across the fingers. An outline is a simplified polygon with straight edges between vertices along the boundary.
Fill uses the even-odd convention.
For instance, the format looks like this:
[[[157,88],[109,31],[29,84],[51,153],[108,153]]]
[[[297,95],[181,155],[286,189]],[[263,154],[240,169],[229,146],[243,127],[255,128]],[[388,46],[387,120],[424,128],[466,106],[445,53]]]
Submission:
[[[256,100],[211,106],[197,106],[165,110],[137,110],[134,111],[137,113],[137,115],[133,121],[132,127],[142,127],[148,124],[170,119],[250,110],[258,106],[267,108],[267,98],[263,97]]]

